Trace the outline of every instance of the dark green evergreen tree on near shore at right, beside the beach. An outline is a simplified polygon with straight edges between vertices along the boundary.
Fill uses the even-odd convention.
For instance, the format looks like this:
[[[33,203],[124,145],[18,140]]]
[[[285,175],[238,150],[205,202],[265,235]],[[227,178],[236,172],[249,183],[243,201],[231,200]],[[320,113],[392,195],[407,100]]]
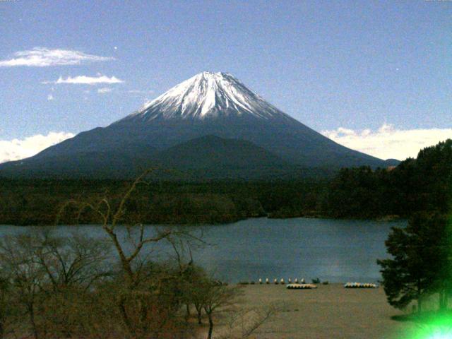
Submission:
[[[416,213],[405,228],[393,227],[386,240],[392,258],[378,260],[389,304],[403,309],[413,300],[439,293],[439,307],[447,306],[451,291],[451,230],[439,213]]]

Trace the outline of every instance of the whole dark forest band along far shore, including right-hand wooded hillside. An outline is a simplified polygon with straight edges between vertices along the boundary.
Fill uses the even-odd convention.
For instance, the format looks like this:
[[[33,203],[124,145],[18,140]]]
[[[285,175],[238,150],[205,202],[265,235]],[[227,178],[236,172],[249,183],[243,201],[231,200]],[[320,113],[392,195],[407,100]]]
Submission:
[[[340,169],[333,178],[273,181],[150,181],[127,203],[143,222],[200,224],[245,218],[394,219],[417,211],[446,213],[451,197],[452,140],[420,150],[397,167]],[[53,225],[69,199],[118,202],[129,181],[0,179],[0,224]],[[60,222],[71,222],[64,218]],[[84,223],[98,220],[85,215]]]

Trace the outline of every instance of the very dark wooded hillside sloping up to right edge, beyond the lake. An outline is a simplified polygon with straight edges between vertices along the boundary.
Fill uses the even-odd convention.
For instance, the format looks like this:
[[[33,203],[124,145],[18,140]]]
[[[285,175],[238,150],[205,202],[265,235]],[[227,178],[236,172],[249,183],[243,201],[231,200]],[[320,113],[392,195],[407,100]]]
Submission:
[[[393,169],[342,169],[328,188],[324,210],[339,218],[447,213],[451,201],[452,140],[424,148]]]

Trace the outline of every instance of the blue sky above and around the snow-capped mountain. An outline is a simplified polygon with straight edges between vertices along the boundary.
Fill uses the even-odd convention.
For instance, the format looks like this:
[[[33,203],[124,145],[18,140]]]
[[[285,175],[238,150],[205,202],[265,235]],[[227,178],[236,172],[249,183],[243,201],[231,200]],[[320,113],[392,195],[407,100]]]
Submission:
[[[0,145],[106,126],[201,71],[368,153],[388,129],[452,137],[452,1],[0,1]]]

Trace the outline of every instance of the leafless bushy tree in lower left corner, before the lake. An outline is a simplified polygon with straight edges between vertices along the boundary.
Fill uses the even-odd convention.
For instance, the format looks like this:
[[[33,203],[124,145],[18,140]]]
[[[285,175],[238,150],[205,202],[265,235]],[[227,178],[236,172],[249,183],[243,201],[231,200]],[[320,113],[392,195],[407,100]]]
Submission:
[[[3,237],[0,323],[3,311],[8,311],[3,308],[8,297],[11,304],[23,307],[34,338],[52,331],[69,336],[69,319],[78,316],[73,312],[74,296],[81,299],[95,281],[108,275],[103,265],[108,253],[102,240],[80,234],[57,237],[51,229]]]

